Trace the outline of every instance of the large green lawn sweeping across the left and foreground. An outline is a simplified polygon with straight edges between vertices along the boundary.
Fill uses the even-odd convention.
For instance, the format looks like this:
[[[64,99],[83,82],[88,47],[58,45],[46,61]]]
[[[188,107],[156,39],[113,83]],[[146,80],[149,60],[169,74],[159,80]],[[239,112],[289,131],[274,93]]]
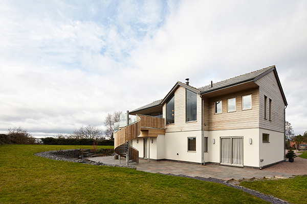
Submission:
[[[0,145],[0,203],[268,203],[222,184],[34,156],[81,147],[91,148]]]

